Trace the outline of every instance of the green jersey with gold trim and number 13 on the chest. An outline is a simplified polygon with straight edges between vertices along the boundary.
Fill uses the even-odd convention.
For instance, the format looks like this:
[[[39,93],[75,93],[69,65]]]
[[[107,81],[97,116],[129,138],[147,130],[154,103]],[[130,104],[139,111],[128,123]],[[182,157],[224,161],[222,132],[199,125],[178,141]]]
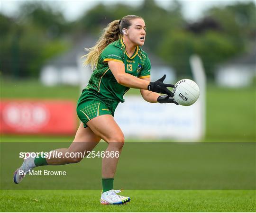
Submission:
[[[108,61],[123,62],[125,72],[138,78],[150,77],[151,64],[147,54],[136,47],[134,54],[129,57],[122,39],[109,44],[100,54],[96,69],[93,71],[85,89],[94,90],[103,96],[124,102],[124,94],[129,90],[117,82],[110,71]]]

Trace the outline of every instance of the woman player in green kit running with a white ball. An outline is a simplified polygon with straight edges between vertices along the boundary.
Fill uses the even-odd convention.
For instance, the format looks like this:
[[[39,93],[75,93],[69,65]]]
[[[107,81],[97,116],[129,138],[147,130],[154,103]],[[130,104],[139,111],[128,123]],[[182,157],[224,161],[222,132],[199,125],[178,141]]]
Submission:
[[[129,88],[140,89],[142,97],[151,103],[175,103],[173,93],[165,84],[165,75],[155,82],[150,81],[151,65],[147,54],[141,49],[146,38],[144,19],[128,15],[112,21],[101,35],[95,46],[87,49],[85,64],[93,69],[88,85],[83,89],[77,103],[77,115],[82,121],[73,143],[68,149],[56,151],[65,153],[91,151],[103,139],[108,143],[106,152],[121,153],[124,134],[113,116],[119,102]],[[166,94],[159,95],[158,93]],[[76,158],[28,158],[16,170],[14,182],[19,183],[29,169],[43,165],[63,165],[77,163]],[[102,159],[101,204],[124,204],[129,197],[117,195],[120,190],[113,190],[113,178],[119,156]],[[20,175],[21,174],[21,175]]]

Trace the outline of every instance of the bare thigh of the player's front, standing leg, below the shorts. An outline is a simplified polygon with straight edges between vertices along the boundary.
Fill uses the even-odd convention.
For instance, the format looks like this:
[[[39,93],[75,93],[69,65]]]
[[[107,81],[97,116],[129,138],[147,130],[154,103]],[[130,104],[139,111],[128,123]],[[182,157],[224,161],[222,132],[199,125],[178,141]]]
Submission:
[[[112,115],[94,117],[87,125],[106,142],[124,142],[124,134]]]

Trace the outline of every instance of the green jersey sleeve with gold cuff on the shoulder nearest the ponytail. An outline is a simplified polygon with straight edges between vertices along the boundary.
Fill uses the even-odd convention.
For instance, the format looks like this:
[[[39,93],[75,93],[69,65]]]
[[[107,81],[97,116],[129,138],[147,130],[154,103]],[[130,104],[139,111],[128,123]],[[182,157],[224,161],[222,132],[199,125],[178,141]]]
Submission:
[[[102,51],[101,57],[103,59],[103,62],[123,62],[123,54],[123,51],[119,47],[115,45],[108,45]]]

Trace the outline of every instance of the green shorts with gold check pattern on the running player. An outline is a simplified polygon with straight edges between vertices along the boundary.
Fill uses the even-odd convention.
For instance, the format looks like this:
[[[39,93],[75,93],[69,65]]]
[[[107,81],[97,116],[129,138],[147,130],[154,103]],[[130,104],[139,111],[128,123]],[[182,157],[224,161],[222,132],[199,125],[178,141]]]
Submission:
[[[78,99],[76,113],[85,128],[87,127],[86,123],[94,117],[100,115],[114,116],[118,104],[119,101],[101,97],[101,94],[93,90],[84,89]]]

